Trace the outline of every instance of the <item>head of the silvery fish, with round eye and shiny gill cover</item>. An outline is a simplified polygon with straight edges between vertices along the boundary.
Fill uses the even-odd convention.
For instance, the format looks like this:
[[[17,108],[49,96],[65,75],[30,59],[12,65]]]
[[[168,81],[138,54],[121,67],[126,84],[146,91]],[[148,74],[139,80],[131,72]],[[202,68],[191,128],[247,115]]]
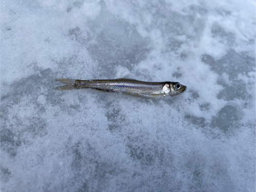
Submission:
[[[187,89],[186,86],[179,82],[165,82],[163,86],[163,92],[169,96],[179,95]]]

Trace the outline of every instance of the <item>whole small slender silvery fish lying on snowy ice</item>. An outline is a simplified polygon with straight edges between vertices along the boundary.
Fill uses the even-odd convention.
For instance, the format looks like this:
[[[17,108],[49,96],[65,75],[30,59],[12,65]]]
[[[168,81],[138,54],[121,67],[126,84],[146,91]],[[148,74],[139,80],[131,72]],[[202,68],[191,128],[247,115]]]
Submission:
[[[65,86],[54,90],[93,89],[100,92],[117,92],[144,98],[164,98],[179,95],[186,90],[179,82],[147,82],[135,79],[55,79]]]

